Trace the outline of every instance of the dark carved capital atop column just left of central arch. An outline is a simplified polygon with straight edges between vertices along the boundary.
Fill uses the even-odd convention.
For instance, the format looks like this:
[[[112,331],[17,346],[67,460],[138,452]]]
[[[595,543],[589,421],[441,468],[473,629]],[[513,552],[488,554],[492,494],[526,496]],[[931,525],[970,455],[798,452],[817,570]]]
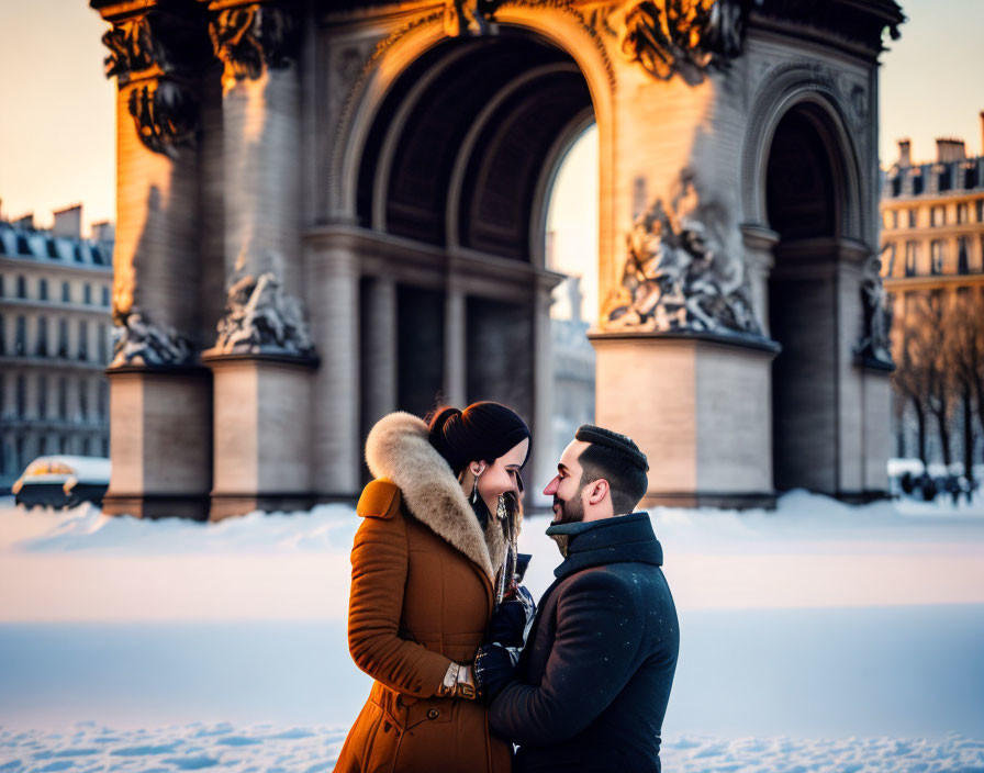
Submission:
[[[294,61],[301,44],[299,9],[292,3],[209,3],[212,49],[225,67],[224,79],[256,80],[269,69]]]

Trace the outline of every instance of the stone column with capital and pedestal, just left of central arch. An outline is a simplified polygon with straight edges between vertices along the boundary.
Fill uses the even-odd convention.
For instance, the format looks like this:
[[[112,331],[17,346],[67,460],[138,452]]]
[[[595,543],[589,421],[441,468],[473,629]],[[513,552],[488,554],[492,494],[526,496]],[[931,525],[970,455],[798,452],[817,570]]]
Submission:
[[[300,301],[300,19],[291,3],[208,3],[223,63],[226,309],[205,360],[215,403],[213,519],[313,498],[314,345]]]

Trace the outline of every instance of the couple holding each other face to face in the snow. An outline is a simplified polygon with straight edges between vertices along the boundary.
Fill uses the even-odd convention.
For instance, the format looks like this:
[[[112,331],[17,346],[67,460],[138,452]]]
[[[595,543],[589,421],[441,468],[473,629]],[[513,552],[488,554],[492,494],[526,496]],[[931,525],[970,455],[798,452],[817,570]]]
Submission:
[[[679,629],[662,549],[634,513],[646,457],[578,430],[544,490],[563,560],[536,608],[515,542],[529,444],[492,402],[429,425],[394,413],[369,434],[348,641],[374,682],[336,771],[660,770]]]

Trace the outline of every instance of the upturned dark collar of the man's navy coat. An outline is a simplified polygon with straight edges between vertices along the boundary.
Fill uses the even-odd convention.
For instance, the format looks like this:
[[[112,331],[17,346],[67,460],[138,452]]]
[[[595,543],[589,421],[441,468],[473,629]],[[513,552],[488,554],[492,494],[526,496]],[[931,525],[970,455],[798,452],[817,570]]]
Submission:
[[[554,570],[560,579],[589,567],[608,563],[652,563],[662,565],[663,549],[652,531],[647,513],[631,513],[603,520],[557,524],[547,529],[550,537],[567,536],[568,554]]]

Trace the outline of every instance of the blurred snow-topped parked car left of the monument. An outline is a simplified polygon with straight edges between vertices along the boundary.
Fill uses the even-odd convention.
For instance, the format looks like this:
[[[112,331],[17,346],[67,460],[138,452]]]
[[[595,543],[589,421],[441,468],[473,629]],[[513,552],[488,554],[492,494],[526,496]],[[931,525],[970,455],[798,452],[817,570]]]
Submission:
[[[82,502],[102,505],[110,485],[110,460],[102,457],[37,457],[14,481],[14,502],[29,509],[75,507]]]

